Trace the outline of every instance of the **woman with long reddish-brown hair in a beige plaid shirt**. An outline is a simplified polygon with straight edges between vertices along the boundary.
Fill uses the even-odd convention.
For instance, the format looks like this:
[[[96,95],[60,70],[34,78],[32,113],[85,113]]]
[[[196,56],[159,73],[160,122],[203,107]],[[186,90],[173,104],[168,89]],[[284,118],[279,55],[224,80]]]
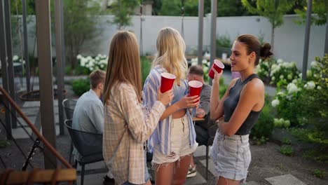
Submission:
[[[104,161],[116,184],[151,184],[144,142],[156,128],[169,90],[160,93],[151,109],[142,106],[139,47],[135,35],[121,31],[111,39],[104,91]]]

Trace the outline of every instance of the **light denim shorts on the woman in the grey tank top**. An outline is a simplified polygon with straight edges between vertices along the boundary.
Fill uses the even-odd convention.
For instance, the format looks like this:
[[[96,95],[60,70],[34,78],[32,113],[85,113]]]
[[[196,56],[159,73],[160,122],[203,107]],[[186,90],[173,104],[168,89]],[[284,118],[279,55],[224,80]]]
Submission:
[[[246,181],[251,161],[248,139],[249,135],[226,136],[217,131],[210,149],[215,167],[214,176]]]

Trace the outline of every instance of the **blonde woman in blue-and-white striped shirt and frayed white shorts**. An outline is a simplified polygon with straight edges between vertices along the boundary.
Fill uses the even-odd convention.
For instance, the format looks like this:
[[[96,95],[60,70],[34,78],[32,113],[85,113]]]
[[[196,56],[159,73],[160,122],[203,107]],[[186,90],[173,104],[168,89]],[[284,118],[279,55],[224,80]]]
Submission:
[[[197,107],[199,97],[188,96],[188,64],[184,57],[186,45],[179,32],[170,27],[161,29],[156,48],[158,53],[146,78],[142,100],[147,107],[153,107],[156,90],[160,87],[160,74],[163,72],[176,76],[173,85],[175,97],[166,107],[156,130],[149,138],[149,151],[153,152],[156,184],[184,184],[191,154],[198,146],[195,128],[187,109]]]

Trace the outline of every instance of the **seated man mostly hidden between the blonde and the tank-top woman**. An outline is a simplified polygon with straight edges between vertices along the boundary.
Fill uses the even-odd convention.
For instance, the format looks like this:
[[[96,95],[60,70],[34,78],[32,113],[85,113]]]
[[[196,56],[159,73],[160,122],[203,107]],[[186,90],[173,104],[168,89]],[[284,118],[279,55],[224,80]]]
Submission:
[[[207,140],[210,136],[215,135],[216,128],[214,122],[210,121],[210,116],[208,115],[210,112],[210,97],[212,87],[210,85],[205,84],[204,81],[204,71],[203,68],[199,65],[194,65],[189,67],[189,71],[187,74],[188,81],[200,81],[203,83],[202,90],[200,91],[200,104],[199,107],[196,108],[196,117],[197,118],[205,118],[205,121],[196,122],[195,131],[196,131],[196,142],[198,142],[198,146],[206,145]],[[213,129],[209,129],[211,127]],[[211,131],[214,130],[212,133]],[[211,133],[210,133],[211,132]],[[196,165],[193,163],[193,157],[191,158],[189,171],[187,177],[195,177],[196,176]]]

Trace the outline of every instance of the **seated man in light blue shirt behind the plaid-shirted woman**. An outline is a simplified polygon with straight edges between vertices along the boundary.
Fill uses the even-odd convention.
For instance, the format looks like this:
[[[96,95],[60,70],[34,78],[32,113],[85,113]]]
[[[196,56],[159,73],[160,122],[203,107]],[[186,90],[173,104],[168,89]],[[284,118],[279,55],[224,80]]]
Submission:
[[[102,134],[104,131],[104,105],[102,104],[102,92],[106,73],[95,70],[90,74],[90,90],[76,102],[73,113],[72,128],[86,132]],[[78,151],[74,148],[74,158],[78,158]],[[111,172],[104,177],[104,184],[114,184]]]

